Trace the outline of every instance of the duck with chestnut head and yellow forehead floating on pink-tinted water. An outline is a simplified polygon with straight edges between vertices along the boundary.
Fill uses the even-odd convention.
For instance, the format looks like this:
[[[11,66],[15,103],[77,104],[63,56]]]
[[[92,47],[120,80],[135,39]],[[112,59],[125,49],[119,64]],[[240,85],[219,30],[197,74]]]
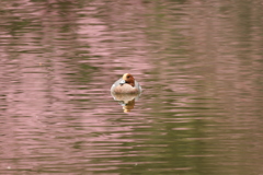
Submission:
[[[116,94],[140,94],[141,91],[141,86],[130,73],[124,73],[111,88],[111,92]]]

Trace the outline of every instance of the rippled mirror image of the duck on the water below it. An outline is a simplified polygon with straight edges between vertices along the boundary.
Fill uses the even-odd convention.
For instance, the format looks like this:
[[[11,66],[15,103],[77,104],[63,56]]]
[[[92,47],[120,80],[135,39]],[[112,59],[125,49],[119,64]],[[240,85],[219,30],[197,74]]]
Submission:
[[[115,101],[118,102],[119,105],[123,106],[124,113],[129,113],[135,106],[135,101],[139,100],[140,94],[112,93],[112,96]]]

